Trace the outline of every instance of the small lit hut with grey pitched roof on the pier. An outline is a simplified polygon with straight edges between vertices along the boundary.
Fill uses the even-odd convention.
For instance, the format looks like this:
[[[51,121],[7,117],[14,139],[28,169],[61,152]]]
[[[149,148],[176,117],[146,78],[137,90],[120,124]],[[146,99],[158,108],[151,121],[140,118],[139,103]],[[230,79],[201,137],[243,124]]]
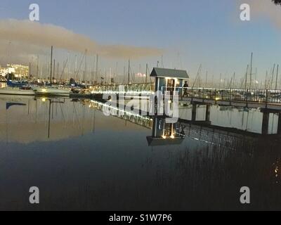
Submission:
[[[155,91],[179,91],[182,94],[182,87],[185,81],[188,82],[188,72],[185,70],[173,70],[165,68],[153,68],[150,77],[155,77]]]

